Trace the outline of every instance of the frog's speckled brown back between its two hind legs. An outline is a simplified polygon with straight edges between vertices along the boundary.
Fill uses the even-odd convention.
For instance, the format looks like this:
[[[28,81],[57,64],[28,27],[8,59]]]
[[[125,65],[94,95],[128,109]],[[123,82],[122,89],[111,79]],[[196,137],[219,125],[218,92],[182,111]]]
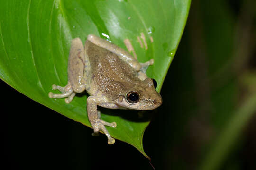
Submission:
[[[98,90],[88,91],[90,95],[100,91],[102,95],[116,99],[140,81],[137,72],[111,51],[90,41],[86,41],[85,49],[91,65],[92,86]]]

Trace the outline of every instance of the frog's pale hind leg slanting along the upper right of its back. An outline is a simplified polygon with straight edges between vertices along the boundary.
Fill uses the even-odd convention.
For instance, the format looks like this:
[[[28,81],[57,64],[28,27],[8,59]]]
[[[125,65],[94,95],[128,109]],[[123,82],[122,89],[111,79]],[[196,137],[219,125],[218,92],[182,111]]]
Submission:
[[[107,40],[104,40],[100,37],[97,37],[96,35],[89,34],[87,37],[87,40],[91,41],[95,45],[98,45],[102,48],[105,48],[116,55],[124,61],[126,61],[132,68],[134,68],[136,71],[139,71],[141,69],[140,63],[135,59],[128,51],[125,51],[124,49],[120,48],[119,46],[112,44],[111,42],[108,42]]]

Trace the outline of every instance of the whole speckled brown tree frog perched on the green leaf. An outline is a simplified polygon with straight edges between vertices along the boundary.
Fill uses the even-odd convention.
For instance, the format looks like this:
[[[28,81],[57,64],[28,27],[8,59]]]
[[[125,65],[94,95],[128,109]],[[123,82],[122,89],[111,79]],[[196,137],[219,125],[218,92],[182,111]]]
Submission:
[[[146,70],[154,59],[140,63],[128,51],[89,34],[85,45],[80,38],[74,38],[68,58],[68,83],[62,87],[52,85],[50,98],[65,98],[70,103],[76,93],[86,91],[87,114],[93,129],[93,136],[103,132],[108,144],[115,139],[105,126],[117,127],[116,122],[101,119],[98,106],[109,109],[153,110],[162,104],[162,97],[156,91],[155,79],[146,76]]]

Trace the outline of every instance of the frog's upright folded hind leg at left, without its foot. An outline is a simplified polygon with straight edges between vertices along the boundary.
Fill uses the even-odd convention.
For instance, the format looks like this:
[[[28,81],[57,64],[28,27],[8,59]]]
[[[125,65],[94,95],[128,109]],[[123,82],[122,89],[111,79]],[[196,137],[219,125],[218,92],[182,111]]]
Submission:
[[[85,54],[82,41],[79,38],[72,40],[68,59],[68,81],[74,92],[81,93],[85,89],[83,81]]]

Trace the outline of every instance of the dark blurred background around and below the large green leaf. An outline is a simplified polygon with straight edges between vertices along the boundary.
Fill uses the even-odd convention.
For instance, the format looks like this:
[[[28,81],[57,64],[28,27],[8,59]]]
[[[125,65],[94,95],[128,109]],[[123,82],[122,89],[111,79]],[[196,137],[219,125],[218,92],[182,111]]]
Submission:
[[[161,90],[164,103],[144,136],[155,168],[199,169],[237,110],[256,95],[255,85],[256,1],[192,0]],[[0,86],[3,169],[152,170],[131,145],[108,145],[104,135],[93,137],[92,129]],[[213,169],[256,169],[255,121],[252,114],[234,130],[238,137],[228,140],[232,147]]]

